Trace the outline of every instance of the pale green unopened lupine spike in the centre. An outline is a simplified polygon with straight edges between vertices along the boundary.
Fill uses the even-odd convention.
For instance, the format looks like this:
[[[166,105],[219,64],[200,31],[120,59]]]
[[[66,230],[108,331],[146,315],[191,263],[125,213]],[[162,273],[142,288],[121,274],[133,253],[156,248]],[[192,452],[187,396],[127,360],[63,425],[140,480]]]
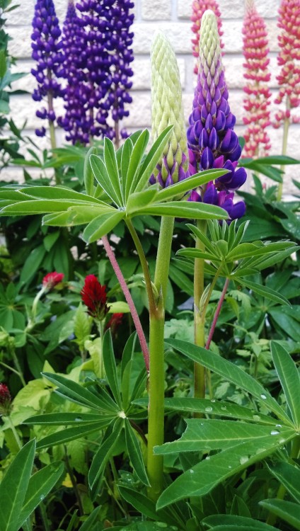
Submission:
[[[165,188],[190,173],[178,64],[171,43],[161,32],[156,32],[151,48],[151,95],[153,139],[168,125],[174,126],[161,164],[150,178],[151,184],[157,181]]]

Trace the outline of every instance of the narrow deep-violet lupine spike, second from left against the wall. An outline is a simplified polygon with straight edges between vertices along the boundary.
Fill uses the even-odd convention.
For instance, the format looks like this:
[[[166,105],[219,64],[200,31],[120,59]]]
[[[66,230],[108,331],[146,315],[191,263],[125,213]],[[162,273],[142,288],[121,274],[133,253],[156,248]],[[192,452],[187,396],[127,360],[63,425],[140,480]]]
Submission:
[[[88,144],[93,127],[93,109],[90,108],[93,86],[88,83],[86,71],[87,37],[81,18],[76,13],[74,0],[68,1],[67,15],[62,29],[64,50],[63,75],[67,79],[64,93],[64,117],[57,122],[67,132],[66,140],[73,144]],[[98,134],[100,129],[98,130]]]

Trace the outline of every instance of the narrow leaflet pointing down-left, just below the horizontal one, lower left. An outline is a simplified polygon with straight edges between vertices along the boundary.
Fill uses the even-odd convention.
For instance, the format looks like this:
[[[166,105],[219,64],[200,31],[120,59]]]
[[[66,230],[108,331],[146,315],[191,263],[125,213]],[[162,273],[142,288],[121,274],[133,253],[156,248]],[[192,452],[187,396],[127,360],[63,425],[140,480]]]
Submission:
[[[89,422],[83,426],[72,426],[71,428],[64,428],[47,437],[42,438],[37,442],[37,448],[41,450],[42,448],[48,448],[50,446],[62,445],[69,440],[76,440],[82,437],[86,437],[90,433],[96,431],[101,431],[104,428],[107,428],[110,423],[113,421],[114,417],[104,417],[100,421]]]

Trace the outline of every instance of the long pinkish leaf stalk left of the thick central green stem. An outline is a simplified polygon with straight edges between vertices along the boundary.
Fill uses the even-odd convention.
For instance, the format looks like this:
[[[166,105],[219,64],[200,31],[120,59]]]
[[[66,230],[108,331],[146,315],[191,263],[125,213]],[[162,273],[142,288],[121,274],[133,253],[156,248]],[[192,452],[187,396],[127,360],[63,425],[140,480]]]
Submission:
[[[137,314],[137,309],[134,306],[134,302],[132,300],[132,296],[129,292],[129,289],[127,287],[125,278],[123,277],[122,271],[120,270],[120,265],[117,263],[117,259],[115,258],[115,253],[113,252],[113,249],[110,246],[110,243],[108,241],[107,236],[102,236],[103,246],[106,251],[106,254],[108,255],[108,258],[110,259],[111,265],[113,265],[113,270],[115,271],[115,274],[117,276],[117,280],[119,280],[120,286],[122,288],[122,292],[125,295],[125,299],[127,300],[127,304],[129,306],[130,312],[132,314],[132,319],[134,322],[135,329],[137,330],[137,336],[139,338],[139,343],[142,348],[142,353],[144,356],[144,362],[146,365],[146,370],[149,372],[149,350],[148,345],[146,342],[144,330],[142,329],[141,321],[139,320],[139,316]]]

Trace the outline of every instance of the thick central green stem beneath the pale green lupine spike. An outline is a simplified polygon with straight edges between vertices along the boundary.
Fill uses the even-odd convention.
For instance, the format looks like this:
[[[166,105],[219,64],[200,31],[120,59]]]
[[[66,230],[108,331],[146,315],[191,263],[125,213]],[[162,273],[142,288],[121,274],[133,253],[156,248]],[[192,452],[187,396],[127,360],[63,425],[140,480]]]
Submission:
[[[156,501],[163,490],[163,457],[154,455],[154,446],[163,444],[164,431],[164,326],[168,270],[171,257],[174,219],[161,218],[161,230],[156,256],[154,284],[158,293],[158,304],[150,309],[150,371],[149,371],[149,415],[148,415],[148,459],[147,471],[150,481],[148,496]]]

